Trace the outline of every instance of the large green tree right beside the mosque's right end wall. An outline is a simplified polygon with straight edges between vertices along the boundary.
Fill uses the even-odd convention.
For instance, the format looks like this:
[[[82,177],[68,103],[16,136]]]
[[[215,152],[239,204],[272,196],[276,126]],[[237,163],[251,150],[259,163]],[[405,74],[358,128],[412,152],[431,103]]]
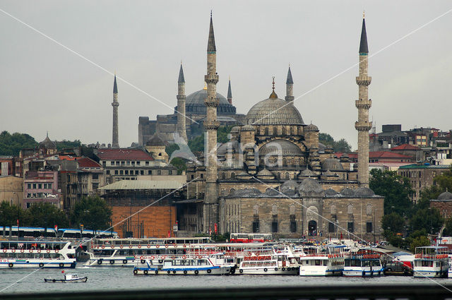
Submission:
[[[384,214],[396,212],[398,215],[410,216],[413,193],[408,178],[399,176],[395,171],[372,169],[369,187],[377,195],[384,196]]]

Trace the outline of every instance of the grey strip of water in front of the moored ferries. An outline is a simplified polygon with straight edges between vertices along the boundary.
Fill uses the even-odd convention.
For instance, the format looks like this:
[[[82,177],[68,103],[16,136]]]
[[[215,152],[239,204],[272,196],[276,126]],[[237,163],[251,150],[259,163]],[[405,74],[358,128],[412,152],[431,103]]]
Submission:
[[[0,270],[0,291],[10,284],[8,289],[1,293],[11,294],[35,293],[35,292],[81,292],[124,289],[174,289],[196,287],[272,287],[272,286],[321,286],[344,284],[449,284],[452,278],[434,279],[413,278],[404,276],[388,276],[375,278],[361,277],[299,277],[299,276],[134,276],[133,268],[76,268],[64,270],[75,272],[80,277],[88,276],[85,283],[46,283],[44,278],[62,278],[60,269],[25,270],[4,269]],[[31,275],[30,275],[31,273]],[[25,277],[27,276],[28,277]]]

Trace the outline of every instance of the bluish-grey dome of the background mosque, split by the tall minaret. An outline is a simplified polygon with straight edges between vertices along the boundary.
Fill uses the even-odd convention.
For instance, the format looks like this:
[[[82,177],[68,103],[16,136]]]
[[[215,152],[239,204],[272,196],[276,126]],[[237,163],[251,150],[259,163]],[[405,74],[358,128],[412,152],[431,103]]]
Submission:
[[[186,114],[206,114],[206,104],[204,104],[204,100],[207,97],[207,90],[198,90],[197,92],[193,92],[190,95],[186,96],[185,99],[185,112]],[[227,101],[225,96],[221,95],[217,92],[218,99],[218,107],[217,114],[218,115],[229,115],[235,114],[236,108]],[[177,109],[177,107],[175,107]]]

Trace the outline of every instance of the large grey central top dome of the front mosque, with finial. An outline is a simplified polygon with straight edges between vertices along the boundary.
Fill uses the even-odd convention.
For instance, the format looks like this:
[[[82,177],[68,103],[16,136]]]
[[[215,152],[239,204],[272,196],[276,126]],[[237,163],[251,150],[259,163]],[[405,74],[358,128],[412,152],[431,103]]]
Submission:
[[[287,104],[285,100],[271,96],[249,109],[248,114],[246,114],[246,123],[256,125],[304,125],[302,115],[299,114],[298,109],[293,104]]]

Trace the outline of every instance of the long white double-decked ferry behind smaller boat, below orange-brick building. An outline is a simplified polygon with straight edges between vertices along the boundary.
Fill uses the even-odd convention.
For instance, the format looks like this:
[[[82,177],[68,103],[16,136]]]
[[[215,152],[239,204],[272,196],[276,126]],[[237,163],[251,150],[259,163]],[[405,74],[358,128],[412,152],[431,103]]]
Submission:
[[[88,246],[88,267],[130,267],[145,260],[162,263],[165,258],[201,253],[210,241],[206,237],[167,239],[93,239]],[[218,252],[218,251],[213,251]]]

